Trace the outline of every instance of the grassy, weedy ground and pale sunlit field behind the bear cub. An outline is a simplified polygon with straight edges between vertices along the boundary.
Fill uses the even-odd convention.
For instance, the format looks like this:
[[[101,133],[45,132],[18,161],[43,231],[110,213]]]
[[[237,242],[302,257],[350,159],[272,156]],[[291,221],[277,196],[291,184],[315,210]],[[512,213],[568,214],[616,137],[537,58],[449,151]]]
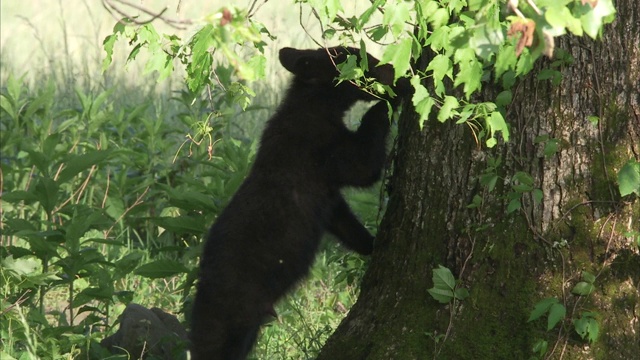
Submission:
[[[185,2],[176,13],[178,1],[166,3],[168,15],[185,19],[219,7]],[[257,13],[278,36],[267,49],[267,80],[252,84],[257,109],[215,120],[221,141],[208,160],[204,146],[191,156],[181,148],[190,121],[210,111],[206,102],[175,100],[184,88],[179,72],[157,83],[142,75],[143,61],[124,66],[121,42],[102,73],[101,44],[115,21],[99,2],[0,2],[0,358],[86,358],[131,301],[184,319],[199,234],[249,168],[286,81],[277,49],[313,46],[290,30],[299,17],[286,9],[267,2]],[[377,192],[349,197],[375,228]],[[185,270],[138,272],[157,260]],[[312,358],[355,301],[364,266],[333,242],[323,245],[309,279],[278,304],[255,357]]]

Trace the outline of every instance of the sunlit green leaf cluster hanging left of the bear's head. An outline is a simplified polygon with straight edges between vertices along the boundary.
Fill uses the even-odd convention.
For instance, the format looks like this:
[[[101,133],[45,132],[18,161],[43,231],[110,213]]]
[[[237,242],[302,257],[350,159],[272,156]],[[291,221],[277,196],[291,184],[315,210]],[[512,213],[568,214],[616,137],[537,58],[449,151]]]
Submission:
[[[114,44],[124,37],[133,46],[127,61],[135,61],[144,49],[148,56],[145,73],[157,72],[158,81],[171,75],[174,63],[179,62],[185,67],[189,91],[198,94],[215,79],[232,97],[231,103],[246,109],[255,93],[242,82],[264,78],[263,34],[270,36],[262,24],[237,8],[223,8],[205,17],[204,24],[186,40],[176,35],[161,36],[151,23],[137,26],[130,19],[122,19],[104,39],[102,69],[111,65]],[[245,52],[249,48],[254,51]]]

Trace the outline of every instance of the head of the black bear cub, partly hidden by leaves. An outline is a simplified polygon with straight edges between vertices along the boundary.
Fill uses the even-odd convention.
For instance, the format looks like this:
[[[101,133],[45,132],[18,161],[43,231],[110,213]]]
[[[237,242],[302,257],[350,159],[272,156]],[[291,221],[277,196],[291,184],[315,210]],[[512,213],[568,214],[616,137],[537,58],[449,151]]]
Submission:
[[[359,89],[353,83],[343,81],[338,84],[336,78],[339,71],[336,65],[345,62],[349,55],[356,56],[358,64],[361,64],[359,49],[342,46],[317,50],[283,48],[280,50],[280,63],[295,75],[295,81],[308,85],[336,86],[339,92],[344,92],[349,97],[359,100],[375,100],[374,95]],[[378,66],[379,63],[378,59],[367,54],[368,70],[365,72],[365,76],[391,86],[394,75],[393,66],[390,64]],[[387,97],[383,96],[383,98]]]

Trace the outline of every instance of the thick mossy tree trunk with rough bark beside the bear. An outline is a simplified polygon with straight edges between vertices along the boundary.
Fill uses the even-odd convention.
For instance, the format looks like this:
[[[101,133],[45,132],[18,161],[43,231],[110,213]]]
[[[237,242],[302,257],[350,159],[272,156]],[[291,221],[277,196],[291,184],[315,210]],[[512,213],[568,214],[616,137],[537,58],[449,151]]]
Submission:
[[[469,127],[429,121],[421,131],[405,112],[360,297],[319,359],[529,359],[539,340],[548,342],[539,358],[637,358],[640,201],[620,198],[616,174],[640,159],[640,16],[635,0],[616,8],[602,40],[556,44],[574,59],[558,68],[559,84],[537,80],[546,62],[516,86],[508,144],[480,151]],[[545,135],[557,141],[547,156]],[[489,157],[502,160],[492,192],[479,182]],[[507,215],[518,171],[544,196],[536,203],[525,193]],[[483,205],[470,209],[474,195]],[[440,264],[469,289],[467,299],[431,298]],[[583,271],[596,275],[595,290],[577,296]],[[527,322],[548,297],[567,309],[550,331],[546,316]],[[598,313],[593,343],[572,323],[589,311]]]

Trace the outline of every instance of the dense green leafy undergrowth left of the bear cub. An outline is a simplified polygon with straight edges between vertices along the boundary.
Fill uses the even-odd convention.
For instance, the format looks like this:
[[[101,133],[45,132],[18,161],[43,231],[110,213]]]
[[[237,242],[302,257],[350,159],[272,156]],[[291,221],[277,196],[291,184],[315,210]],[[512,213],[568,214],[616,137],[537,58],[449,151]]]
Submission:
[[[104,333],[87,337],[86,329],[112,331],[107,325],[131,301],[180,311],[202,234],[248,170],[253,144],[221,142],[211,160],[195,148],[172,163],[180,123],[158,119],[150,104],[128,107],[113,102],[112,90],[76,88],[77,106],[61,108],[53,86],[32,92],[13,76],[6,84],[2,357],[99,352]],[[176,108],[206,118],[193,104],[204,103],[190,98]],[[235,114],[217,117],[213,136],[229,132]],[[157,291],[166,279],[175,288]]]

